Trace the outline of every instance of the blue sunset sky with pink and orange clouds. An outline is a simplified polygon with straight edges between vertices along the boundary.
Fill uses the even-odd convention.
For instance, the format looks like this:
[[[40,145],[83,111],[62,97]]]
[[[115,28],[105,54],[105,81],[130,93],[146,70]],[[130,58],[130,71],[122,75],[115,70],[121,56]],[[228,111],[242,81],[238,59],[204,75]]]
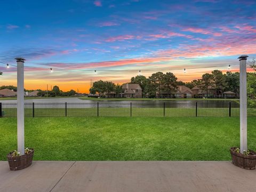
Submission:
[[[170,71],[187,82],[213,69],[226,72],[241,54],[256,57],[256,1],[1,0],[0,6],[0,61],[15,65],[21,56],[26,66],[42,67],[26,67],[26,89],[49,84],[88,92],[91,79],[121,84],[139,70],[147,77]],[[174,70],[219,65],[225,66]],[[0,64],[0,71],[0,85],[17,85],[17,68]]]

